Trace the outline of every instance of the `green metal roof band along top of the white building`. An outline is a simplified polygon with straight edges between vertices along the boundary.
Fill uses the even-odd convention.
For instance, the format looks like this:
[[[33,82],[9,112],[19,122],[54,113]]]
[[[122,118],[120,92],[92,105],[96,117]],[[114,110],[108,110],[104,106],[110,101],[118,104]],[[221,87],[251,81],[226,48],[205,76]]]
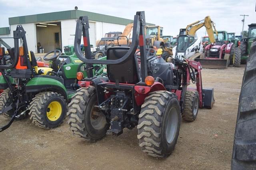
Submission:
[[[116,23],[121,25],[127,25],[128,23],[131,23],[133,21],[125,18],[97,14],[94,12],[87,12],[87,11],[81,11],[81,10],[69,10],[69,11],[60,11],[60,12],[50,12],[45,14],[36,14],[36,15],[30,15],[30,16],[12,17],[12,18],[9,18],[9,24],[15,25],[15,24],[22,24],[22,23],[70,20],[70,19],[79,18],[80,16],[88,16],[89,20],[91,21]],[[150,23],[148,24],[154,25]]]

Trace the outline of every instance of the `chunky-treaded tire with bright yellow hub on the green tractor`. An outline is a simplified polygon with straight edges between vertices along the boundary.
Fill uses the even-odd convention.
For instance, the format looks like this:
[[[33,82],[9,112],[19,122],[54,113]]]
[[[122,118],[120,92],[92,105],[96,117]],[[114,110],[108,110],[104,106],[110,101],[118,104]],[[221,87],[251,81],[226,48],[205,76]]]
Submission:
[[[56,92],[36,94],[28,109],[32,123],[45,129],[56,128],[63,123],[67,111],[64,97]]]

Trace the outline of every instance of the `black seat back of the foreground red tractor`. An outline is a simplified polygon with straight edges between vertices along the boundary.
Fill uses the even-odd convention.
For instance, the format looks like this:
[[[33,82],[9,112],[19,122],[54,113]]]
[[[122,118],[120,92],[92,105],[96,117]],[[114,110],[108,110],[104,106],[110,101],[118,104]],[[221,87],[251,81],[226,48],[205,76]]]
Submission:
[[[110,47],[107,51],[107,60],[120,59],[129,49],[130,47]],[[107,73],[110,82],[136,84],[140,81],[138,62],[134,54],[120,64],[107,65]]]

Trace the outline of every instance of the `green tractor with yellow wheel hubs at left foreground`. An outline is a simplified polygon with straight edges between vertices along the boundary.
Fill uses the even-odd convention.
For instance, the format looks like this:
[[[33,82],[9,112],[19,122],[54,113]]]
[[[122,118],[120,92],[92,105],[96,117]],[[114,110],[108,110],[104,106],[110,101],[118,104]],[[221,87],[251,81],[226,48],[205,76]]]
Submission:
[[[0,132],[10,127],[14,119],[28,116],[39,127],[58,127],[66,117],[68,102],[79,88],[77,80],[89,73],[76,55],[61,55],[59,50],[44,56],[44,60],[52,61],[51,68],[38,67],[33,51],[28,51],[25,34],[22,25],[18,25],[14,48],[8,49],[10,64],[0,56],[0,89],[5,89],[0,94],[0,115],[10,119],[0,127]],[[54,54],[50,57],[51,53]],[[90,65],[90,74],[97,76],[103,69],[103,65]]]

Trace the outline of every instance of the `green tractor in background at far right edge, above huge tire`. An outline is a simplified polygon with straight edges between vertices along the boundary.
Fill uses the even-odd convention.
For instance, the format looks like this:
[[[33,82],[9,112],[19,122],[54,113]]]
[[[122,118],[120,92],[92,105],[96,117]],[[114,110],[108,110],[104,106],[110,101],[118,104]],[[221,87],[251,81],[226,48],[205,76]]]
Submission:
[[[248,25],[248,27],[248,35],[246,38],[242,39],[240,44],[242,63],[246,63],[250,54],[250,47],[252,45],[252,42],[256,38],[256,23],[251,23],[250,25]]]

